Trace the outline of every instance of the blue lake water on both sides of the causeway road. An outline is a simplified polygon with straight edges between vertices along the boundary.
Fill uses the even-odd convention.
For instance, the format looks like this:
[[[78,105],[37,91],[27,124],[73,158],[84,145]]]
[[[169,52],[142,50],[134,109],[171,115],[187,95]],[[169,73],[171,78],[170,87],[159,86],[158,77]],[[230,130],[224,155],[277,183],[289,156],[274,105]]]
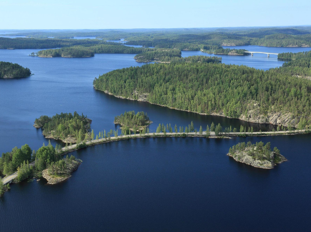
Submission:
[[[41,130],[32,124],[40,115],[61,112],[83,112],[93,120],[95,133],[118,128],[113,123],[114,116],[125,110],[147,112],[154,122],[151,132],[159,123],[185,127],[191,121],[197,129],[212,121],[237,128],[244,123],[257,130],[269,129],[268,125],[172,110],[94,90],[92,81],[98,75],[143,65],[135,62],[135,54],[66,59],[28,56],[32,51],[37,50],[0,50],[0,60],[28,67],[34,74],[22,79],[0,79],[0,153],[25,143],[32,149],[47,143]],[[222,57],[223,61],[225,57],[232,58],[228,62],[248,62],[248,66],[258,69],[275,64],[272,56],[267,59],[258,54]],[[272,147],[277,146],[289,161],[273,170],[261,170],[226,156],[230,146],[248,140],[271,141]],[[311,224],[309,141],[310,135],[149,138],[89,147],[72,153],[83,163],[64,183],[49,186],[41,180],[12,184],[11,190],[0,198],[0,228],[305,231]],[[55,145],[56,141],[52,143]]]

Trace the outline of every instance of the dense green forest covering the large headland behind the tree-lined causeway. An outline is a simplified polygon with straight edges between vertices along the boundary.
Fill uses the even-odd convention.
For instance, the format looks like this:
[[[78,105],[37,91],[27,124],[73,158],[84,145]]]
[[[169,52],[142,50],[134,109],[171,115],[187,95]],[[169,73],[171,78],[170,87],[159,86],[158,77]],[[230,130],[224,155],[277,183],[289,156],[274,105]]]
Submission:
[[[307,59],[307,58],[306,58]],[[291,124],[311,120],[311,83],[293,72],[299,60],[268,71],[241,65],[172,62],[118,69],[95,78],[95,89],[203,114],[241,118],[257,107],[256,115],[283,112],[292,115]],[[309,62],[310,64],[310,62]],[[309,70],[308,63],[298,67]],[[133,94],[137,93],[138,94]]]

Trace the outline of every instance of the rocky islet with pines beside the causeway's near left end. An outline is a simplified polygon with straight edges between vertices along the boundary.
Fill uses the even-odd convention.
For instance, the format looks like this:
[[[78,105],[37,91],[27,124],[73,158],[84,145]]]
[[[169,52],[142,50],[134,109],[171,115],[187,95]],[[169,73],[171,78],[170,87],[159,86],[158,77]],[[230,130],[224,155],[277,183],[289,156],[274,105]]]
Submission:
[[[42,176],[48,181],[48,184],[57,184],[68,179],[71,176],[70,173],[77,170],[80,164],[81,162],[76,160],[73,155],[70,158],[67,156],[44,169]]]

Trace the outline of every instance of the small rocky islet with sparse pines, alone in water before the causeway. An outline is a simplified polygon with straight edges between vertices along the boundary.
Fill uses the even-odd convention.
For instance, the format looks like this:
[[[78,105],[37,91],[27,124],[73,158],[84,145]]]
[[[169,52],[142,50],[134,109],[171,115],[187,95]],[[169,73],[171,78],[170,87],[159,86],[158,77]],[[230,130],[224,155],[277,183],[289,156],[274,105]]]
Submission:
[[[238,162],[267,169],[272,169],[276,164],[287,160],[276,147],[273,151],[271,150],[270,142],[264,145],[261,141],[256,142],[256,144],[252,144],[250,141],[247,144],[238,143],[230,147],[227,155]]]

